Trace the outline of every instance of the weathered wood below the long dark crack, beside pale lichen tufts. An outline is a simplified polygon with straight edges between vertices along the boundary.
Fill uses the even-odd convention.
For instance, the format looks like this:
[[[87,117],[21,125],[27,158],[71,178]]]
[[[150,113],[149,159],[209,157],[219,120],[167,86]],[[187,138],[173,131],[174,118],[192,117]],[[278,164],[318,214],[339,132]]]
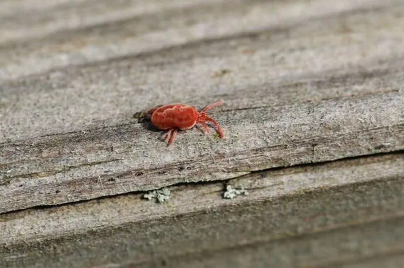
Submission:
[[[228,182],[248,190],[232,200],[222,198],[222,182],[210,182],[172,186],[163,204],[139,193],[5,213],[0,260],[147,267],[157,256],[168,267],[318,267],[401,254],[403,166],[400,153],[256,172]]]

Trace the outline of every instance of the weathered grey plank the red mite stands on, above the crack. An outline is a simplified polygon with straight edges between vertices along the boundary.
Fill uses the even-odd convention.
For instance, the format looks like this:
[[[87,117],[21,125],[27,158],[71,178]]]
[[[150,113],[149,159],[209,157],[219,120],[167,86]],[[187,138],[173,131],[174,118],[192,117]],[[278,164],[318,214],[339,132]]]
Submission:
[[[404,149],[404,36],[393,34],[404,22],[392,11],[404,6],[5,82],[0,212]],[[223,141],[193,130],[165,148],[130,118],[217,98]]]

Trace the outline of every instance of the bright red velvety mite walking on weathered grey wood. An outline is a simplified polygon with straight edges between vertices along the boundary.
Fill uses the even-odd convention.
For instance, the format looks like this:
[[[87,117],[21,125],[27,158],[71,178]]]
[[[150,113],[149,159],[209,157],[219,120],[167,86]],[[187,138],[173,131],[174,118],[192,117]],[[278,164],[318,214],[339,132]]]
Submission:
[[[219,132],[220,138],[223,138],[224,134],[219,124],[206,114],[207,110],[221,105],[222,103],[223,100],[220,99],[212,104],[207,105],[201,111],[198,111],[197,108],[194,106],[182,103],[167,104],[150,109],[147,112],[147,115],[150,116],[150,120],[155,127],[157,127],[158,129],[169,130],[164,135],[164,140],[166,142],[171,135],[170,140],[168,141],[168,145],[171,145],[174,142],[174,138],[178,130],[193,128],[196,123],[201,124],[206,133],[209,132],[205,123],[206,121],[212,122],[217,128],[217,132]]]

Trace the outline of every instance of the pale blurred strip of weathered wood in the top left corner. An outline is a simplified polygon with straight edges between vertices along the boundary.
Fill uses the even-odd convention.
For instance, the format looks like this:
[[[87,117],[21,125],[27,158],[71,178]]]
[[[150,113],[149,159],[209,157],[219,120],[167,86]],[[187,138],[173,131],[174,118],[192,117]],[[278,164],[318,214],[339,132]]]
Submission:
[[[4,0],[0,3],[1,42],[24,41],[35,37],[100,24],[125,21],[133,17],[149,17],[215,1],[196,0]],[[217,1],[216,1],[217,2]],[[161,15],[160,15],[161,16]]]

